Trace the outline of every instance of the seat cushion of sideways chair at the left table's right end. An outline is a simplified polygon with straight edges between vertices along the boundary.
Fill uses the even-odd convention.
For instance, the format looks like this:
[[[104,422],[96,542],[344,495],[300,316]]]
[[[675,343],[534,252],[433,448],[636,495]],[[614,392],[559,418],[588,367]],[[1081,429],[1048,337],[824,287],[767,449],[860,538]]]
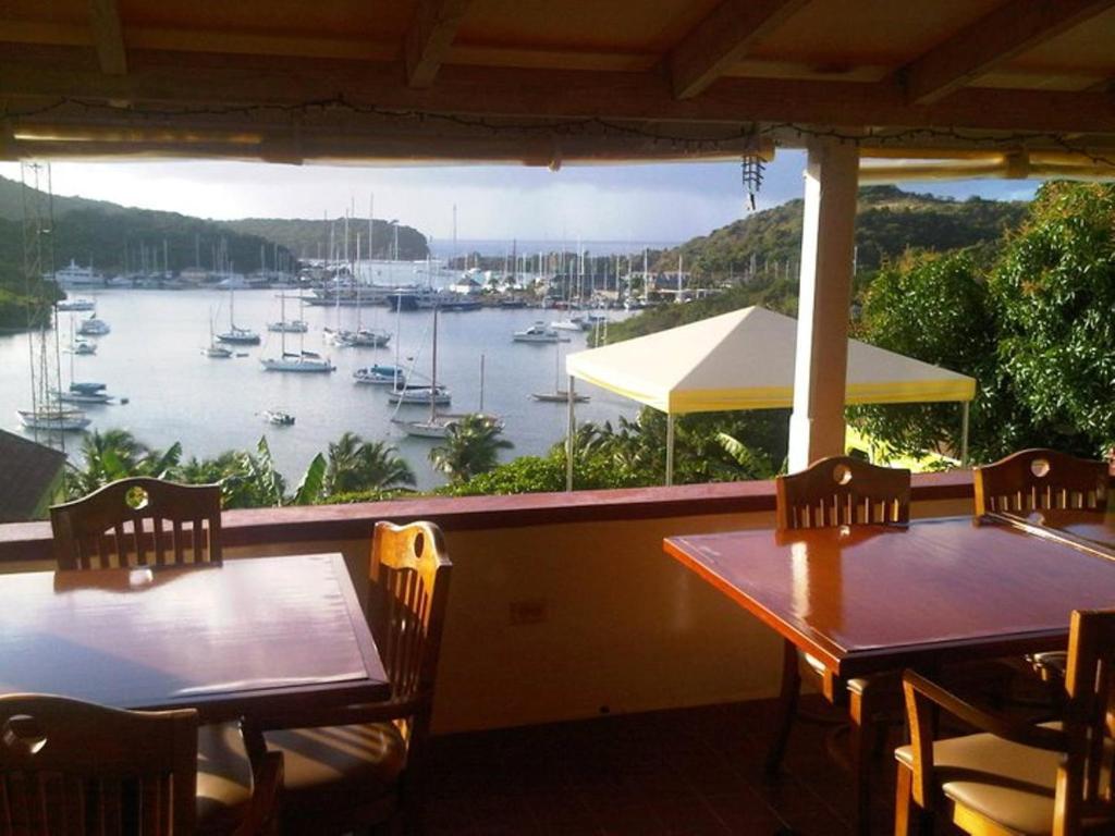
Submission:
[[[352,807],[392,794],[407,746],[390,722],[282,729],[264,735],[283,756],[283,808]]]

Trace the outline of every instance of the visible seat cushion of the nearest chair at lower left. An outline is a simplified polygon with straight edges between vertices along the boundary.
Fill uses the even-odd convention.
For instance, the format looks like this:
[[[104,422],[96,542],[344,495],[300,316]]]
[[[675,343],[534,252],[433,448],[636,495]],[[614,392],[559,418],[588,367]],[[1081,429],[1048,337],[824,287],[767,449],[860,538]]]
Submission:
[[[232,833],[252,801],[252,762],[235,722],[197,729],[197,832]]]

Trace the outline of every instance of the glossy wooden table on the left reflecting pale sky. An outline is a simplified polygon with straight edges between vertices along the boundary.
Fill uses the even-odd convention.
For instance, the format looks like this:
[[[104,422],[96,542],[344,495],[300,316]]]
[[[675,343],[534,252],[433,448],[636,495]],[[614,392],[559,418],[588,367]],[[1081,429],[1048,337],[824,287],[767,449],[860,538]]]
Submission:
[[[340,554],[0,575],[0,694],[209,722],[388,690]]]

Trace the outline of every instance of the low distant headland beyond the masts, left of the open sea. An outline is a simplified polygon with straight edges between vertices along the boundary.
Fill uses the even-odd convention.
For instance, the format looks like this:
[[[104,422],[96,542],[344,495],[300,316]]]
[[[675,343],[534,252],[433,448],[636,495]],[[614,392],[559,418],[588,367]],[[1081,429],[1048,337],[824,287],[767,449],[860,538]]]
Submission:
[[[338,247],[345,235],[345,218],[326,221],[288,220],[279,217],[245,217],[242,221],[223,221],[225,226],[248,235],[259,235],[285,246],[297,259],[327,257],[329,254],[330,227]],[[349,246],[356,252],[356,236],[360,234],[360,253],[368,254],[368,221],[349,222]],[[395,232],[387,221],[376,220],[372,227],[376,259],[390,259],[395,251]],[[399,226],[398,257],[403,261],[425,259],[429,253],[426,236],[410,226]]]

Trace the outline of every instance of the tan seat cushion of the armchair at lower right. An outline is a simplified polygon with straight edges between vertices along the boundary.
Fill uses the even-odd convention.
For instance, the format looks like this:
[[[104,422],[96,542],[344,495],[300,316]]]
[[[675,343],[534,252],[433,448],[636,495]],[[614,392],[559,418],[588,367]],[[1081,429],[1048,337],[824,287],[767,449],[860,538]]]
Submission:
[[[1059,723],[1047,723],[1058,728]],[[913,751],[894,757],[913,768]],[[933,768],[944,795],[1012,833],[1053,833],[1054,794],[1060,755],[995,735],[938,740]]]

